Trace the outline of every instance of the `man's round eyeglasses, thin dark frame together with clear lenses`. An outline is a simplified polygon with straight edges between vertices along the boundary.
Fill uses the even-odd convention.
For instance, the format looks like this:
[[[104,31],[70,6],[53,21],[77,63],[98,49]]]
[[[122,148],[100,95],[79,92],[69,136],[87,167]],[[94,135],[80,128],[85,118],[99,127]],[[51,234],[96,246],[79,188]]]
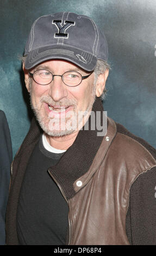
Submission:
[[[33,74],[29,72],[29,75],[36,83],[41,84],[42,86],[46,86],[47,84],[51,83],[54,76],[60,76],[66,86],[74,87],[78,86],[83,79],[88,78],[92,72],[88,76],[82,76],[77,71],[66,71],[63,75],[53,75],[49,70],[39,69],[35,70]]]

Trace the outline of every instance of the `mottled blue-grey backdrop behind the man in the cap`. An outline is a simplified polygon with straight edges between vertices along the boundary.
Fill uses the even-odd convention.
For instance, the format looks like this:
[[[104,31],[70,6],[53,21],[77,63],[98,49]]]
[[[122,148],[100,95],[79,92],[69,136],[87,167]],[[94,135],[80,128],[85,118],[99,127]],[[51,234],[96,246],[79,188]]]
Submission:
[[[111,65],[104,109],[156,147],[155,0],[0,0],[0,109],[8,119],[14,155],[32,117],[18,56],[34,20],[59,11],[88,15],[104,30]]]

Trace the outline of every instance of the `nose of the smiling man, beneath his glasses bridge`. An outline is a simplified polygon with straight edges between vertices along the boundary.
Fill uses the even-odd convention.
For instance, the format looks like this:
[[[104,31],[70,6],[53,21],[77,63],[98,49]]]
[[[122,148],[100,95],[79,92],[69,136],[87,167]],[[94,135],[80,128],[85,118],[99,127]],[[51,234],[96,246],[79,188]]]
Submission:
[[[67,86],[63,83],[61,76],[53,76],[53,81],[49,86],[48,94],[54,101],[60,101],[64,97],[67,97]]]

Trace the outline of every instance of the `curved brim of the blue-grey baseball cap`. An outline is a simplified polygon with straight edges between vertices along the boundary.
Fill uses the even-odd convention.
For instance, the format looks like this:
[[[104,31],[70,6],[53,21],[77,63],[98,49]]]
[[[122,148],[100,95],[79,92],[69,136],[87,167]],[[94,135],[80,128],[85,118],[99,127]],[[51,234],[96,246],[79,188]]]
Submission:
[[[34,66],[49,59],[64,59],[78,65],[86,71],[95,69],[97,58],[89,52],[67,45],[51,45],[36,48],[28,53],[25,68],[32,69]]]

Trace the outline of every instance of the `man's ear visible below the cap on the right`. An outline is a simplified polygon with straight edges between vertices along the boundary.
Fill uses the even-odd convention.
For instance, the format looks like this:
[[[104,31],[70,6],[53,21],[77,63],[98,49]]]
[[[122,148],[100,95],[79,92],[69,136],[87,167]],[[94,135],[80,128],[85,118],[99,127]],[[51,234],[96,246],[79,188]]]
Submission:
[[[97,97],[100,97],[103,93],[108,74],[109,74],[109,69],[105,70],[104,73],[100,74],[97,78],[97,82],[96,82],[96,96]]]

